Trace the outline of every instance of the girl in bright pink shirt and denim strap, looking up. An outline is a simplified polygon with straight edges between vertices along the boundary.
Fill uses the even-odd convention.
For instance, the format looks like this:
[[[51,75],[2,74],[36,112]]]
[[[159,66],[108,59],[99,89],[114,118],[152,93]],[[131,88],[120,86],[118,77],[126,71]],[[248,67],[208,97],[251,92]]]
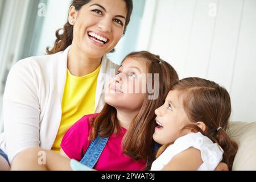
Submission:
[[[11,168],[76,170],[82,163],[96,170],[144,169],[155,156],[154,111],[177,80],[175,69],[159,56],[146,51],[130,53],[105,88],[106,104],[101,113],[85,115],[64,135],[60,154],[66,158],[42,148],[30,148],[14,160]],[[95,144],[97,140],[105,143]],[[98,157],[90,165],[86,162],[96,156],[92,148]],[[38,164],[38,152],[46,152],[46,165]]]

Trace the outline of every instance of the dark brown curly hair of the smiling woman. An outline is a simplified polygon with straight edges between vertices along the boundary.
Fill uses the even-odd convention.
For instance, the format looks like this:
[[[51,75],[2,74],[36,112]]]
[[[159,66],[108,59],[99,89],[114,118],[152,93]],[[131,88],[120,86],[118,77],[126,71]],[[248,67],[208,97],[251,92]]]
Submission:
[[[71,3],[71,6],[74,6],[77,11],[79,11],[82,6],[86,5],[92,0],[73,0]],[[126,32],[127,25],[130,22],[131,13],[133,12],[133,0],[123,0],[126,3],[127,8],[127,16],[126,16],[126,22],[125,22],[125,30],[123,31],[123,34]],[[60,34],[60,30],[63,30]],[[73,40],[73,26],[69,24],[69,22],[64,24],[63,28],[59,28],[56,32],[56,40],[54,47],[50,49],[49,47],[46,48],[46,52],[48,55],[52,55],[54,53],[64,51],[68,46],[72,44]]]

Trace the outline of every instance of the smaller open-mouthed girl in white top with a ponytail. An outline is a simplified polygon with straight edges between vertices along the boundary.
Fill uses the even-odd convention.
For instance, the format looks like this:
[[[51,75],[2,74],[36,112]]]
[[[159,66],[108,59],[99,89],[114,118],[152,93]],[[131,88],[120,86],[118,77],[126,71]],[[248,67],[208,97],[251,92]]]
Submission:
[[[232,169],[237,143],[225,132],[231,113],[229,93],[213,81],[184,78],[155,110],[153,138],[162,144],[151,170]]]

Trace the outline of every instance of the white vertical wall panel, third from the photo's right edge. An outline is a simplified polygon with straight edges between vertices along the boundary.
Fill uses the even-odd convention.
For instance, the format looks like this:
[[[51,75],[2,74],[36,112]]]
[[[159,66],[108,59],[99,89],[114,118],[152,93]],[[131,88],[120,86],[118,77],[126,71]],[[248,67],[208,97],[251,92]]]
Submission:
[[[216,11],[213,14],[209,8],[212,6],[209,5],[215,7]],[[207,75],[214,26],[216,25],[217,5],[218,0],[197,1],[183,77],[205,77]]]

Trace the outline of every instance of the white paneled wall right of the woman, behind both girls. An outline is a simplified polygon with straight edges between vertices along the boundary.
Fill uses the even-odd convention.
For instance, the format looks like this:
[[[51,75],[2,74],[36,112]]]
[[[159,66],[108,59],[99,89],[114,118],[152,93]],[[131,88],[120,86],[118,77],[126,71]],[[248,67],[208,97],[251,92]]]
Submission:
[[[144,14],[147,25],[137,49],[160,55],[180,78],[225,86],[232,99],[230,120],[256,121],[256,1],[148,0],[145,9],[154,18]]]

